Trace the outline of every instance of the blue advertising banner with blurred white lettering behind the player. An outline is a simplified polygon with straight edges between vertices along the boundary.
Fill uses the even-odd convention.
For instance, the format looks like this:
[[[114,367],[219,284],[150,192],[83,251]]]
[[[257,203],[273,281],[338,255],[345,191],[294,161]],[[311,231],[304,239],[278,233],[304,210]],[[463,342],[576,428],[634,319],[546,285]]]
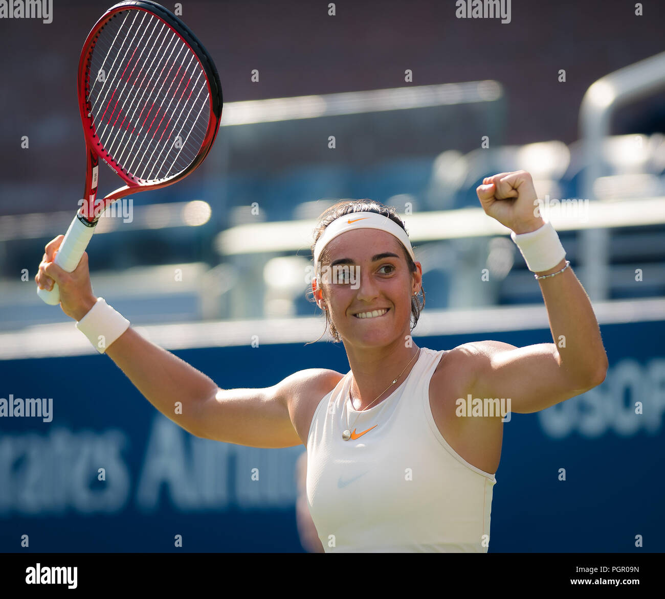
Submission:
[[[660,551],[665,321],[601,331],[610,361],[602,385],[504,424],[490,553]],[[522,347],[551,334],[415,337],[431,349],[478,339]],[[174,353],[222,388],[271,386],[311,367],[348,371],[331,343]],[[21,414],[9,416],[10,402]],[[0,361],[0,551],[303,551],[303,452],[196,438],[108,357]]]

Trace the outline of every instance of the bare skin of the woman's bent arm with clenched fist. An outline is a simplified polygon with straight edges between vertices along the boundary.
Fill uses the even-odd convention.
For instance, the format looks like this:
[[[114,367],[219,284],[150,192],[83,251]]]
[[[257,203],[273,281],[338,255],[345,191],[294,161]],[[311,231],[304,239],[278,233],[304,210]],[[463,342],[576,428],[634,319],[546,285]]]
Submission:
[[[525,171],[485,179],[477,189],[483,209],[515,234],[539,230],[533,214],[535,189]],[[498,341],[467,343],[473,365],[473,396],[511,398],[513,412],[537,412],[579,395],[605,378],[607,355],[591,301],[565,260],[537,276],[545,299],[553,343],[515,347]],[[563,270],[563,272],[560,272]],[[536,284],[536,282],[533,282]],[[462,347],[460,349],[462,349]]]

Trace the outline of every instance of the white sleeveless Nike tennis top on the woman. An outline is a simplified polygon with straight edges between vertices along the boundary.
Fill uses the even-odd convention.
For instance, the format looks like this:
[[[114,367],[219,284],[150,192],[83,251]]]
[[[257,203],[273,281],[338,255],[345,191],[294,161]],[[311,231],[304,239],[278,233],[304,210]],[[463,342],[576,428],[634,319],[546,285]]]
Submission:
[[[420,348],[406,380],[368,410],[351,405],[351,371],[319,402],[307,503],[326,553],[487,553],[496,479],[457,454],[434,422],[430,379],[443,353]],[[344,441],[347,428],[367,432]]]

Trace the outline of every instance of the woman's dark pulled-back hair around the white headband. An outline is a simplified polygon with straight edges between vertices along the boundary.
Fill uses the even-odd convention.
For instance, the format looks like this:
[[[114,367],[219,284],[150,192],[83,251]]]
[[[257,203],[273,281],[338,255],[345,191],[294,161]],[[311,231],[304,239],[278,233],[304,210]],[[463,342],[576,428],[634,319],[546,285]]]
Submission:
[[[321,214],[321,216],[319,216],[319,224],[317,224],[317,226],[314,229],[314,242],[311,246],[312,255],[314,255],[314,248],[317,244],[317,240],[319,240],[319,237],[323,235],[325,228],[329,224],[331,224],[333,220],[336,220],[340,216],[346,216],[346,214],[353,214],[356,212],[373,212],[376,214],[381,214],[382,216],[387,216],[388,218],[390,218],[390,220],[393,220],[399,226],[401,226],[404,229],[404,232],[408,234],[408,232],[406,231],[406,226],[404,226],[404,222],[402,222],[402,219],[398,216],[397,209],[395,207],[386,206],[380,202],[370,199],[342,200],[332,205],[329,209],[327,209],[327,211],[325,211],[323,214]],[[401,243],[400,246],[404,251],[404,258],[406,258],[406,264],[408,264],[408,268],[410,272],[413,274],[414,272],[416,272],[416,263],[412,260],[411,256],[406,251],[406,248],[402,246]],[[323,252],[321,252],[321,256],[319,258],[321,262],[323,262],[324,258],[328,257],[327,252],[328,248],[327,247],[323,248]],[[319,287],[320,286],[321,285],[319,284]],[[311,294],[311,298],[308,297],[309,301],[313,301],[314,303],[316,303],[316,299],[314,298],[314,292],[311,286],[307,292],[308,296],[309,294]],[[422,297],[422,302],[419,301],[419,298],[421,297]],[[418,292],[418,296],[411,296],[411,321],[413,323],[411,325],[411,330],[413,330],[416,324],[418,324],[418,318],[420,318],[420,311],[422,311],[424,307],[425,307],[425,290],[421,285],[420,292]],[[324,311],[326,314],[326,327],[330,326],[331,335],[334,341],[336,343],[342,341],[337,329],[334,326],[334,323],[332,323],[331,321],[329,310],[324,310]],[[321,337],[323,337],[323,335],[325,335],[325,331],[321,333]],[[321,337],[319,337],[319,339],[321,339]],[[319,341],[319,339],[317,339],[317,341]],[[310,341],[309,343],[314,343],[314,341]],[[305,345],[307,345],[307,343]]]

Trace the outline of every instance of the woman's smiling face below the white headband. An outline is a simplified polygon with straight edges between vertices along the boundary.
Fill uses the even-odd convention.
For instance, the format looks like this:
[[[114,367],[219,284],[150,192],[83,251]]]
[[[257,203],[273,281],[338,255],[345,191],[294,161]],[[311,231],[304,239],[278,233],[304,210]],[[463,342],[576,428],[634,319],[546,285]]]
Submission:
[[[344,341],[380,347],[410,335],[411,298],[420,289],[422,268],[416,262],[416,272],[410,272],[397,238],[378,229],[356,229],[338,235],[325,252],[329,259],[323,268],[353,271],[336,282],[322,277],[321,289],[315,288],[317,303],[327,307]]]

